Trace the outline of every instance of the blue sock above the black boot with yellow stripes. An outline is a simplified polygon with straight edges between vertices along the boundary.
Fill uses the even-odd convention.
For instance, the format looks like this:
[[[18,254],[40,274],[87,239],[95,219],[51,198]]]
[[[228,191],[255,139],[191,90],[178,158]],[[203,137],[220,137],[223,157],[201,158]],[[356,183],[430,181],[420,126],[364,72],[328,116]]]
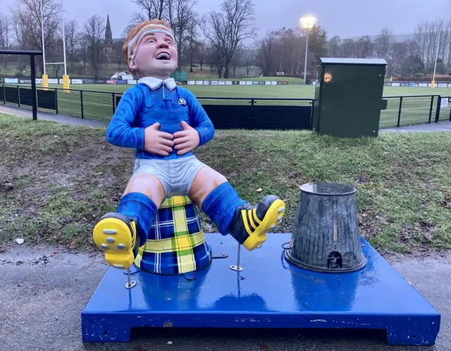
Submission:
[[[227,235],[236,208],[244,203],[246,201],[242,200],[233,186],[226,181],[206,196],[202,203],[202,212],[210,217],[221,234]]]

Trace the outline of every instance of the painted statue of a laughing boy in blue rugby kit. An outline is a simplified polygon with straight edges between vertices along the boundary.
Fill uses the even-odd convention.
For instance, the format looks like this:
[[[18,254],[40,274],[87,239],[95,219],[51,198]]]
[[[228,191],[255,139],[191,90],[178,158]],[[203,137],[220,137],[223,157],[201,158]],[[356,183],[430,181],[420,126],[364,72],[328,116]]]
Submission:
[[[163,20],[140,23],[123,51],[140,80],[123,94],[106,139],[135,148],[135,169],[117,211],[101,217],[93,230],[106,262],[119,269],[132,265],[159,205],[172,195],[189,196],[221,234],[230,234],[247,250],[259,247],[266,232],[282,221],[285,203],[265,196],[250,205],[226,177],[192,153],[214,136],[214,126],[194,94],[170,78],[178,65],[171,26]]]

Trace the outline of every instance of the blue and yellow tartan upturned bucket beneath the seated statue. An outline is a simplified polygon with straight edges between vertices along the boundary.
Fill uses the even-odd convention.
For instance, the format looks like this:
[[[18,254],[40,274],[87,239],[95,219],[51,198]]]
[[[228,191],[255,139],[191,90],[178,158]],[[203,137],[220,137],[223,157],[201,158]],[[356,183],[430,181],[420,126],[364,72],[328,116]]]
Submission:
[[[135,265],[145,272],[175,275],[199,271],[210,262],[211,247],[196,205],[187,196],[163,200]]]

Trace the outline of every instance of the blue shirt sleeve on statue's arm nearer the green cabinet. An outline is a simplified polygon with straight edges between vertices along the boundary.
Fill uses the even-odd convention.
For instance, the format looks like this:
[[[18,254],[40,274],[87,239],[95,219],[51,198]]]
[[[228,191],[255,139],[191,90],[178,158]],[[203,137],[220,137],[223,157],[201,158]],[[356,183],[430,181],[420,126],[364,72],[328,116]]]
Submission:
[[[190,125],[199,133],[199,146],[208,143],[214,136],[214,125],[202,105],[191,91],[185,89],[187,105],[190,110]]]

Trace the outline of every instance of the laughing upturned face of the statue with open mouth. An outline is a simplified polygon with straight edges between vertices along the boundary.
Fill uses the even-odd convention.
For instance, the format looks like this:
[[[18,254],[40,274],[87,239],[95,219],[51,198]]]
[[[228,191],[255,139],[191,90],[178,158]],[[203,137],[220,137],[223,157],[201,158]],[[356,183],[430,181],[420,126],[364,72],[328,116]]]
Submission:
[[[130,69],[142,77],[169,77],[177,69],[177,48],[171,37],[164,33],[145,35],[137,46]]]

